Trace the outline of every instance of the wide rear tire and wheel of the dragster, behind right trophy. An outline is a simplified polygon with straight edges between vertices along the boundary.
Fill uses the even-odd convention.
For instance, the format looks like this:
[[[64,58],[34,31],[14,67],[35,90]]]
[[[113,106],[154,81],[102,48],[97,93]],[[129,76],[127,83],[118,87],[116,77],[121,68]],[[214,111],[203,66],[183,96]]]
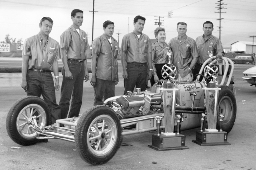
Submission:
[[[219,104],[218,113],[223,115],[222,130],[229,133],[236,120],[236,97],[233,91],[226,85],[219,86]],[[217,118],[217,129],[220,129],[220,120]]]

